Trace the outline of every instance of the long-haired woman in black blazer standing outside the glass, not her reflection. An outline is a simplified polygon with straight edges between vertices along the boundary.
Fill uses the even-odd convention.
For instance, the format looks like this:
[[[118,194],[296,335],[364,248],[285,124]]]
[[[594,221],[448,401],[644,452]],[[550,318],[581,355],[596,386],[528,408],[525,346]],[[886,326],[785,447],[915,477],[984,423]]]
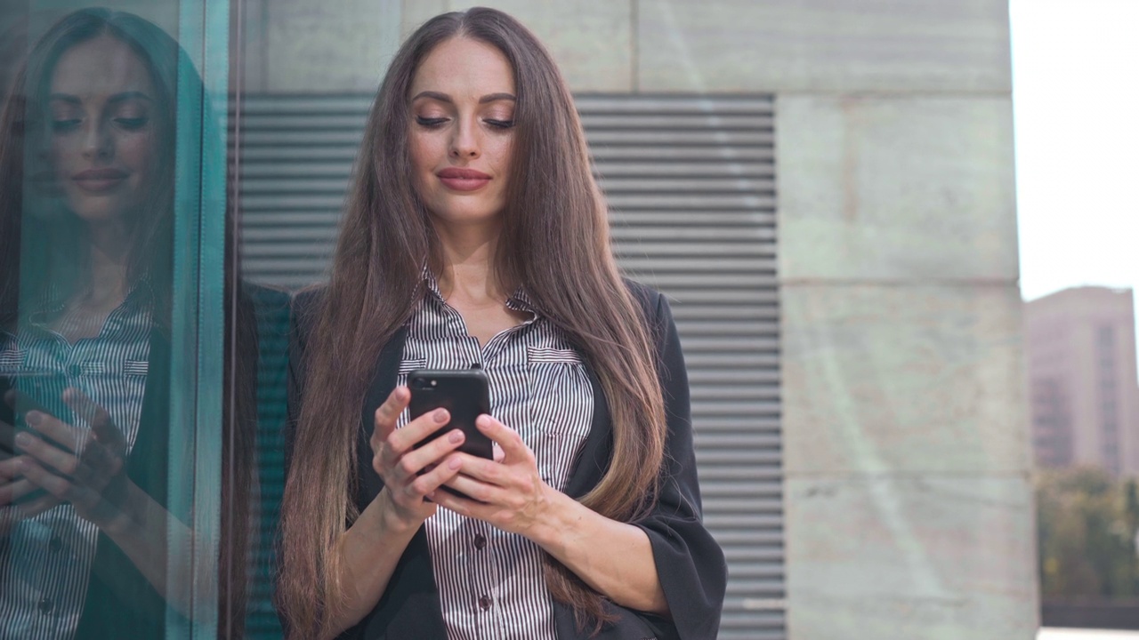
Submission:
[[[621,279],[551,58],[492,9],[424,24],[367,124],[330,284],[296,302],[279,607],[295,638],[712,638],[667,304]],[[484,369],[502,450],[415,444],[408,371]],[[450,487],[465,499],[442,491]]]

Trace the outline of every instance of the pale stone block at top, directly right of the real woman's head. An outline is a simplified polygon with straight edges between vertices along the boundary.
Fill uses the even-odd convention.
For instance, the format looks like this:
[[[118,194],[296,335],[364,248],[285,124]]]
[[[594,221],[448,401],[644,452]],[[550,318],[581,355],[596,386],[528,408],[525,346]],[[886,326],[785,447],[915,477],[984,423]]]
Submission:
[[[501,9],[526,25],[575,92],[632,90],[631,0],[451,0],[449,9]]]

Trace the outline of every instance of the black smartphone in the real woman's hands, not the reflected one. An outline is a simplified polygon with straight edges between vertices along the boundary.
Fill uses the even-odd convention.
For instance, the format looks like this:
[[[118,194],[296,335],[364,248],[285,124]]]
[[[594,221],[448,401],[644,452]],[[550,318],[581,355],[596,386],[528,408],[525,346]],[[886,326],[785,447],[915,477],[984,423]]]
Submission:
[[[435,409],[446,409],[451,421],[443,425],[416,446],[423,446],[451,429],[461,429],[467,438],[459,451],[494,459],[494,443],[475,427],[475,419],[491,412],[491,392],[486,374],[481,369],[417,369],[408,374],[411,419]]]

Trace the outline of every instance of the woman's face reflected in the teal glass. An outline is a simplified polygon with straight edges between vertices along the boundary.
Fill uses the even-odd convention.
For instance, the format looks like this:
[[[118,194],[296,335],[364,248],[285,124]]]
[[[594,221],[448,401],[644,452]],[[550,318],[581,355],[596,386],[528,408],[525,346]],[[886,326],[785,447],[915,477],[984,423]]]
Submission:
[[[146,205],[156,174],[156,92],[131,48],[103,35],[60,56],[48,97],[49,161],[68,207],[90,224]]]

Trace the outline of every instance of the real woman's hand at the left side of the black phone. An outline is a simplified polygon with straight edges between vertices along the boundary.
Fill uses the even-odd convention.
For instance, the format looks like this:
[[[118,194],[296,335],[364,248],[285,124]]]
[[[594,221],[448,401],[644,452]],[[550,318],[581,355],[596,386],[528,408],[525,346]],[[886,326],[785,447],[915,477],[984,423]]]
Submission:
[[[384,479],[377,500],[388,502],[387,515],[395,516],[399,525],[418,528],[437,508],[432,495],[459,473],[462,462],[456,450],[465,435],[452,429],[416,449],[451,418],[445,409],[436,409],[396,429],[396,420],[410,401],[411,392],[400,386],[376,409],[371,467]]]

